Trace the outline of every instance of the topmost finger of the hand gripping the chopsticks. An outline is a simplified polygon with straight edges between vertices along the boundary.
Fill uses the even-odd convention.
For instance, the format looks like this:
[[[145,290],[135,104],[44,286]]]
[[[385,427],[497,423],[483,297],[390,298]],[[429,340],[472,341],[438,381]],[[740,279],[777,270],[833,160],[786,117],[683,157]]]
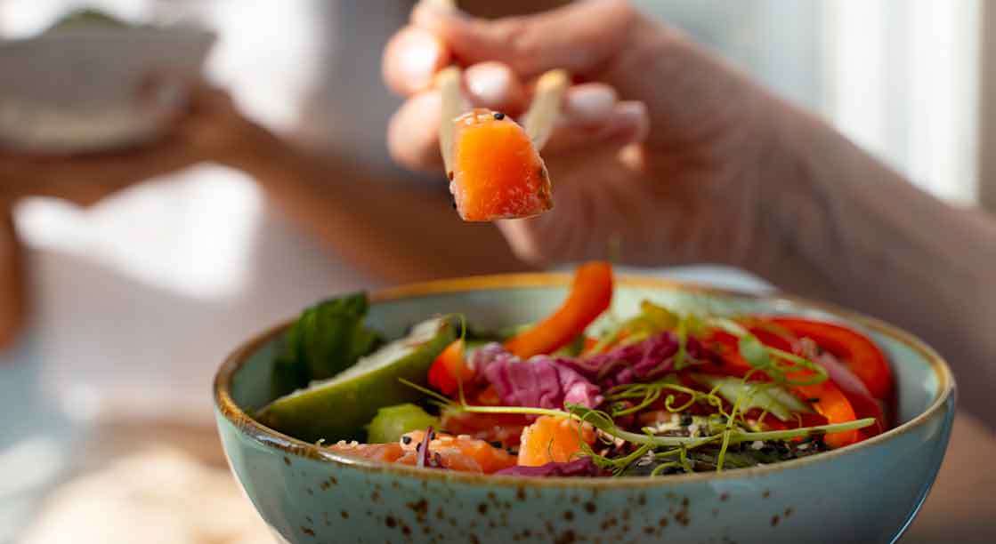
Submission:
[[[623,0],[586,0],[497,20],[422,1],[411,20],[446,42],[462,63],[498,61],[528,79],[558,68],[591,75],[621,50],[628,27],[639,17]]]

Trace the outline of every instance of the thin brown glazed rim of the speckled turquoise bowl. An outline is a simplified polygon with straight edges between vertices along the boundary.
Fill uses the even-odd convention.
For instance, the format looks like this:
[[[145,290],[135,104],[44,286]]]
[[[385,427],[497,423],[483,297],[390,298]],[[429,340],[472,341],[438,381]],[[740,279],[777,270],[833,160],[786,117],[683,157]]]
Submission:
[[[412,283],[398,287],[390,287],[375,291],[371,294],[373,303],[398,299],[419,298],[437,294],[452,294],[459,292],[471,292],[481,290],[504,290],[517,288],[535,288],[569,285],[572,275],[569,273],[539,272],[539,273],[509,273],[495,275],[480,275],[471,277],[461,277],[454,279],[439,279],[421,283]],[[231,397],[232,380],[248,358],[258,351],[263,345],[272,340],[275,336],[283,333],[293,323],[290,319],[284,323],[276,325],[266,330],[236,348],[221,364],[214,378],[214,402],[216,409],[221,415],[238,431],[247,436],[253,442],[272,449],[274,453],[292,454],[312,459],[328,461],[341,466],[349,466],[358,470],[376,473],[389,473],[399,476],[408,476],[422,480],[432,481],[452,481],[462,484],[476,484],[484,486],[539,486],[539,487],[571,487],[571,488],[618,488],[618,487],[647,487],[677,485],[690,482],[713,482],[726,479],[752,479],[762,476],[791,470],[793,468],[808,466],[814,463],[831,462],[842,455],[849,455],[860,452],[863,449],[873,448],[892,439],[909,433],[918,427],[926,425],[938,412],[944,410],[949,399],[954,395],[954,377],[947,363],[932,348],[914,337],[892,325],[878,319],[863,315],[861,313],[847,310],[839,306],[816,302],[806,298],[784,294],[757,294],[736,289],[726,289],[712,287],[694,282],[677,281],[658,277],[621,275],[616,278],[617,284],[627,287],[648,287],[663,288],[669,290],[684,290],[699,292],[703,294],[714,294],[724,297],[741,299],[762,300],[775,305],[791,303],[807,309],[818,309],[827,312],[843,321],[850,321],[871,330],[888,336],[894,341],[904,344],[909,349],[923,357],[937,378],[939,393],[933,403],[917,415],[912,420],[890,429],[881,435],[872,437],[859,444],[834,450],[819,455],[811,455],[798,459],[787,460],[775,464],[756,466],[751,468],[737,468],[723,472],[694,472],[690,474],[670,474],[667,477],[648,478],[642,476],[623,476],[615,478],[571,478],[571,477],[546,477],[546,478],[523,478],[517,476],[499,476],[486,474],[473,474],[467,472],[456,472],[449,470],[435,470],[429,468],[418,468],[414,466],[398,465],[371,461],[362,458],[350,457],[333,453],[327,449],[319,448],[277,431],[270,429],[256,420],[252,419],[241,408],[239,408]]]

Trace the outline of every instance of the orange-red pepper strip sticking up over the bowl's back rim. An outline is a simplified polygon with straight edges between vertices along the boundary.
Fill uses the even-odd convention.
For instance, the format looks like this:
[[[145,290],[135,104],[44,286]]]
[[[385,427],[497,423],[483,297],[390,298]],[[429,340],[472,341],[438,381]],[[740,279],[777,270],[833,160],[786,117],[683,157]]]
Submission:
[[[574,273],[571,293],[552,315],[505,342],[505,349],[523,359],[552,353],[583,333],[613,300],[613,267],[587,263]]]

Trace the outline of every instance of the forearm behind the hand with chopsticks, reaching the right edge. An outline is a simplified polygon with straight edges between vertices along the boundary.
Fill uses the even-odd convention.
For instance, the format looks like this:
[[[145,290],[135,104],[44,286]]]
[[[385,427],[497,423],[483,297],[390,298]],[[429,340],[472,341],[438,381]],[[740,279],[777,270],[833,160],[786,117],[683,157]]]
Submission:
[[[896,323],[932,344],[963,405],[996,425],[996,224],[913,187],[807,115],[784,119],[769,153],[755,264],[784,288]]]

